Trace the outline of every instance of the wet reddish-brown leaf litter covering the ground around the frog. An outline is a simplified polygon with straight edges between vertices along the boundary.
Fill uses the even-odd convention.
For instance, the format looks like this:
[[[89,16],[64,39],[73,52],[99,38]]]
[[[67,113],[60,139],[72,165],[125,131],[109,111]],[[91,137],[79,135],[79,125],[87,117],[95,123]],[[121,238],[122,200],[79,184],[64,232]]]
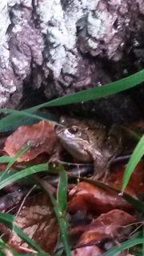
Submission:
[[[140,130],[139,126],[142,128],[143,122],[138,123],[138,126],[137,124],[130,125],[129,128]],[[27,142],[30,142],[31,146],[14,163],[12,167],[14,170],[21,169],[18,167],[19,163],[22,166],[29,166],[35,161],[38,163],[48,162],[58,146],[54,124],[41,121],[31,126],[20,126],[6,138],[5,146],[2,150],[10,157],[14,157]],[[131,145],[133,146],[133,142],[130,147]],[[4,164],[0,164],[1,171],[5,170],[5,167]],[[65,167],[66,170],[70,170],[70,167]],[[111,166],[110,174],[105,183],[121,190],[122,175],[125,168],[126,165],[124,163]],[[58,166],[56,166],[56,169],[58,170]],[[79,169],[80,166],[78,166],[78,171]],[[144,161],[142,160],[135,168],[126,187],[126,192],[130,196],[140,199],[144,194],[143,169]],[[39,178],[43,179],[44,177],[44,174],[39,175]],[[34,181],[32,183],[34,184]],[[56,196],[57,186],[50,185],[49,180],[47,180],[47,184]],[[11,186],[6,186],[5,190],[2,190],[3,194],[0,198],[0,203],[3,203],[1,211],[7,211],[6,205],[8,201],[6,200],[8,198],[6,197],[10,199],[11,196],[9,210],[16,216],[15,224],[21,227],[35,242],[38,242],[38,245],[42,246],[43,250],[54,254],[58,250],[57,246],[60,238],[58,222],[54,215],[54,206],[50,202],[50,198],[38,186],[32,194],[26,197],[27,188],[30,188],[30,186],[32,185],[26,182],[23,182],[23,184],[14,182]],[[22,201],[22,188],[25,187],[26,190],[23,189],[23,198],[25,200]],[[18,192],[14,194],[15,190],[19,190],[19,199]],[[81,256],[83,254],[86,256],[102,255],[106,250],[129,239],[131,232],[138,227],[136,223],[141,221],[141,214],[135,211],[134,206],[117,192],[104,190],[90,182],[78,182],[75,184],[75,182],[71,181],[68,185],[67,195],[68,236],[72,256]],[[21,207],[20,203],[22,203]],[[19,207],[21,210],[18,211]],[[6,235],[6,242],[17,252],[34,253],[34,250],[30,249],[30,246],[27,246],[26,242],[22,241],[14,232],[9,232]],[[118,255],[130,256],[126,250],[123,250]]]

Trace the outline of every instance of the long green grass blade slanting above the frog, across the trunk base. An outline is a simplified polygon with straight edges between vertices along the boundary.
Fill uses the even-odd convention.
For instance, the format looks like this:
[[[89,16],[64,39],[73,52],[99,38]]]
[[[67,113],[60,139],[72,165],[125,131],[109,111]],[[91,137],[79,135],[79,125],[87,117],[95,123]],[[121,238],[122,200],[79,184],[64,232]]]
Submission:
[[[23,120],[22,115],[26,115],[26,113],[32,114],[34,113],[34,111],[41,109],[43,107],[64,106],[72,103],[86,102],[89,100],[119,93],[123,90],[127,90],[134,86],[138,86],[138,84],[140,84],[141,82],[144,82],[144,70],[132,74],[127,78],[122,78],[121,80],[118,80],[116,82],[106,84],[105,86],[94,87],[88,90],[82,90],[78,93],[62,96],[50,102],[34,106],[30,109],[24,110],[24,114],[22,114],[23,110],[19,111],[19,114],[9,114],[5,118],[2,118],[2,120],[0,120],[0,131],[2,132],[10,130],[10,123],[17,122],[18,126],[20,126]]]

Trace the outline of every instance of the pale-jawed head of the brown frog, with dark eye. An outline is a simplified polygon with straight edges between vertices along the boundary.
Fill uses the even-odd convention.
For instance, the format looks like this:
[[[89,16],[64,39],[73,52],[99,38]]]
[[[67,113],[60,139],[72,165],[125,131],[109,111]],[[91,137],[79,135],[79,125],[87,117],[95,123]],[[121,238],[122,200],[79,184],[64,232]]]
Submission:
[[[75,120],[75,119],[74,119]],[[61,119],[61,125],[56,127],[56,134],[62,146],[76,159],[82,162],[91,160],[90,154],[86,148],[90,145],[89,135],[86,133],[86,127],[81,127],[76,122],[68,123],[67,119]],[[71,122],[73,124],[71,124]],[[62,126],[64,125],[64,126]]]

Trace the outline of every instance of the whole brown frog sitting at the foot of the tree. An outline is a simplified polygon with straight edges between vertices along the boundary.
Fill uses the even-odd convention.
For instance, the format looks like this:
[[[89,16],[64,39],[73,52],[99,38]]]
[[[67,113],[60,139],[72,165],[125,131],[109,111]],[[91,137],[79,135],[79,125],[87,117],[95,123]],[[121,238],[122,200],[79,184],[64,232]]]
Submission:
[[[78,162],[94,162],[94,175],[101,178],[109,169],[110,162],[122,151],[120,128],[66,117],[62,117],[60,123],[56,134],[62,146]]]

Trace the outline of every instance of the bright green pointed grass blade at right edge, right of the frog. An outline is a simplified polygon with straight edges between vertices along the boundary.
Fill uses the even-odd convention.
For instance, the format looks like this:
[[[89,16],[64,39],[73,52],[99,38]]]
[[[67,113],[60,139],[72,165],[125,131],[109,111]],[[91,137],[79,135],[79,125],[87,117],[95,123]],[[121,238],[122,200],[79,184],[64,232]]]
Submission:
[[[126,189],[126,186],[130,180],[130,176],[133,173],[135,166],[137,166],[138,162],[142,158],[143,154],[144,154],[144,135],[138,142],[138,145],[135,147],[134,152],[131,155],[130,161],[126,166],[126,170],[122,178],[122,193]]]

